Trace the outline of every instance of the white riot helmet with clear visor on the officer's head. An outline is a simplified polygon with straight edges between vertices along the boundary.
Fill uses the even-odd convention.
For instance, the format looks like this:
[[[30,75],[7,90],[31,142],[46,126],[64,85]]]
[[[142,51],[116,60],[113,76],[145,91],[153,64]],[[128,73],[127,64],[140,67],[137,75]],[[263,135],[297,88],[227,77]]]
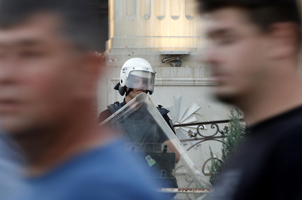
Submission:
[[[122,96],[126,92],[126,87],[130,88],[126,96],[133,88],[144,89],[149,94],[152,94],[154,91],[155,73],[156,71],[152,69],[147,60],[143,58],[130,58],[124,63],[120,71],[120,82],[114,89],[118,90]]]

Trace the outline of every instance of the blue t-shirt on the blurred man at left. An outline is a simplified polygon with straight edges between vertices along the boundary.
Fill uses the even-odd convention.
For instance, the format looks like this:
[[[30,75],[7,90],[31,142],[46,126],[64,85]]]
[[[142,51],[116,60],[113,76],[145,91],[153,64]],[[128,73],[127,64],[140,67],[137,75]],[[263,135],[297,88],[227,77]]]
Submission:
[[[164,199],[140,161],[114,142],[81,153],[42,176],[28,179],[20,199]]]

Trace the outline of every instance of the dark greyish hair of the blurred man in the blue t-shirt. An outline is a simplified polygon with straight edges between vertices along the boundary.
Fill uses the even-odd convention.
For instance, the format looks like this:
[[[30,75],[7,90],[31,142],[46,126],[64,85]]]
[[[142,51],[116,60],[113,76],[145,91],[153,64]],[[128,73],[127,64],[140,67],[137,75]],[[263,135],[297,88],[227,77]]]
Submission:
[[[92,13],[89,1],[82,0],[1,0],[0,28],[22,23],[37,12],[61,15],[62,33],[83,50],[97,50],[101,25]]]

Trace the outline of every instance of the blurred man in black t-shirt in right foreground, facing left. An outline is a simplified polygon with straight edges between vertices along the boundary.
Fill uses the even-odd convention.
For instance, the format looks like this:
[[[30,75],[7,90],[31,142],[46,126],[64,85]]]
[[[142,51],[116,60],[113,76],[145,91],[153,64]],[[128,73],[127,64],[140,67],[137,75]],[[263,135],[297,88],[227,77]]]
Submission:
[[[248,136],[213,199],[302,199],[301,19],[294,0],[202,0],[215,95],[241,108]],[[288,190],[285,190],[288,188]]]

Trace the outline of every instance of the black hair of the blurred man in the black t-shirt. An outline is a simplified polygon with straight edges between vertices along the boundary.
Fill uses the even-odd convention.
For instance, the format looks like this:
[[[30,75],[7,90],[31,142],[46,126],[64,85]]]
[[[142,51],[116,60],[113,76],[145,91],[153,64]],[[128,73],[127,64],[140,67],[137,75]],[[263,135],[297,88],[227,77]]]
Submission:
[[[219,8],[240,7],[246,9],[252,23],[263,31],[276,22],[294,22],[301,41],[301,16],[296,0],[200,0],[201,12]]]

